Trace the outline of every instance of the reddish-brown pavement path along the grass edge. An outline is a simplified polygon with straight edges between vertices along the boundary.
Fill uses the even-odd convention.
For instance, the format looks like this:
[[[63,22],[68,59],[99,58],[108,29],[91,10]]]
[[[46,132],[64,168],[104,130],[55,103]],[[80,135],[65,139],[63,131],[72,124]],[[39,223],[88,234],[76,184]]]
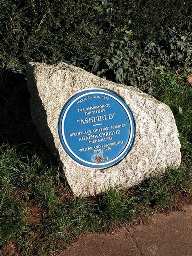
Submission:
[[[88,234],[62,256],[191,256],[192,205],[169,215],[158,213],[146,225],[113,234]]]

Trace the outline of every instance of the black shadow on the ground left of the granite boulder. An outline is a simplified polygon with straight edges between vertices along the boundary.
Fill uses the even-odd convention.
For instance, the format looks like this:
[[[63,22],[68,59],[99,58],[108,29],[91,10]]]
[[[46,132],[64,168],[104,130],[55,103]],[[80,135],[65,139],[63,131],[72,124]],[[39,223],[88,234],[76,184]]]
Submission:
[[[26,70],[0,71],[0,145],[3,144],[55,163],[32,121]]]

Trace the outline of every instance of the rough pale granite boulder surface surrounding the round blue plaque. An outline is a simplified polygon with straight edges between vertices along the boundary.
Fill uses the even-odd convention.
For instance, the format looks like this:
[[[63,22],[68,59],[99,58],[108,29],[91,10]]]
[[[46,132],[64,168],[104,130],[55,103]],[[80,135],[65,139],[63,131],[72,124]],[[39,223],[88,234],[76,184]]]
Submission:
[[[27,79],[34,124],[45,145],[60,161],[76,196],[98,194],[107,187],[132,186],[167,166],[180,165],[180,142],[173,113],[154,97],[63,62],[57,66],[30,62]],[[64,151],[58,135],[58,118],[66,101],[90,88],[110,90],[122,97],[135,120],[136,134],[130,153],[115,166],[104,169],[75,162]]]

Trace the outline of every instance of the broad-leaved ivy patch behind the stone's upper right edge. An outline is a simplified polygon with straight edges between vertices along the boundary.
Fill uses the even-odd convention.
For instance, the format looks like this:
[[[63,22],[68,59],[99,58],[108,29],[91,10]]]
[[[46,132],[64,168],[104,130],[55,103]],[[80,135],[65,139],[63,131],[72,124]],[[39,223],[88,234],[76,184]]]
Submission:
[[[102,77],[134,85],[151,92],[154,77],[158,70],[163,72],[171,66],[188,66],[191,61],[191,33],[179,28],[167,29],[166,34],[158,42],[132,43],[130,33],[124,38],[114,40],[103,56],[105,64],[95,65],[100,68],[97,73]],[[143,44],[143,45],[142,45]],[[101,67],[100,67],[101,66]],[[102,68],[105,67],[105,68]]]

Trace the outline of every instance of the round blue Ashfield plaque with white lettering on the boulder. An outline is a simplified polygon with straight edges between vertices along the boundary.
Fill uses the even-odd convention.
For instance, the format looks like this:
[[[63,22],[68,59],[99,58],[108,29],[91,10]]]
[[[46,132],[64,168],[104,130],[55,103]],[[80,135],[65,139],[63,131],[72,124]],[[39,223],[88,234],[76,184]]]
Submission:
[[[84,90],[64,105],[58,122],[62,146],[84,166],[103,168],[131,149],[134,119],[125,102],[103,89]]]

